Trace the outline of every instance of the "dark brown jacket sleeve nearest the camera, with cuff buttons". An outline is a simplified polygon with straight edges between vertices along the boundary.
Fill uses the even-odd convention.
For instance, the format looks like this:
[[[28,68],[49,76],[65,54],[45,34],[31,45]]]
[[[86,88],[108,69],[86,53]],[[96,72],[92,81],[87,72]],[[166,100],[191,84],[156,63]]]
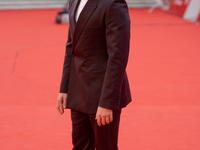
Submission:
[[[118,109],[118,98],[129,55],[130,18],[124,0],[115,0],[105,16],[108,62],[99,106]]]

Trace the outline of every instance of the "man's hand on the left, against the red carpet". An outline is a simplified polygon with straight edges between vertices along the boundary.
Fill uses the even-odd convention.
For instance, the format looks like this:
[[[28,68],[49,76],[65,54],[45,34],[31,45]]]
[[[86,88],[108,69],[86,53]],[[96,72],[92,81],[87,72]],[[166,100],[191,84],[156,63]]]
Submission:
[[[61,115],[64,113],[64,108],[66,108],[66,104],[67,104],[67,93],[59,93],[56,109]]]

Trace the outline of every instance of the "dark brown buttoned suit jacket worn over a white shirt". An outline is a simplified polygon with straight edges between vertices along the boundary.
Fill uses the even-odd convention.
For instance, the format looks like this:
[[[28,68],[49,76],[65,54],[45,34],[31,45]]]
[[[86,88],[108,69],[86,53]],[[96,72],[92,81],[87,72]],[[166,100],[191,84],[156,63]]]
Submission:
[[[126,65],[130,18],[124,0],[88,0],[77,23],[79,0],[70,1],[61,93],[67,108],[95,114],[97,107],[121,109],[131,101]]]

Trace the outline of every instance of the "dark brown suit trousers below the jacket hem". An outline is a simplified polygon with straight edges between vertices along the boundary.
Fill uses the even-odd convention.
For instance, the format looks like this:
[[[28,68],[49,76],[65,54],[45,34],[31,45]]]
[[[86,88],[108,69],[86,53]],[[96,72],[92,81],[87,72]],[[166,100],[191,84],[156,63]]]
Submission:
[[[95,115],[71,110],[73,150],[118,150],[121,110],[113,110],[113,121],[97,125]]]

